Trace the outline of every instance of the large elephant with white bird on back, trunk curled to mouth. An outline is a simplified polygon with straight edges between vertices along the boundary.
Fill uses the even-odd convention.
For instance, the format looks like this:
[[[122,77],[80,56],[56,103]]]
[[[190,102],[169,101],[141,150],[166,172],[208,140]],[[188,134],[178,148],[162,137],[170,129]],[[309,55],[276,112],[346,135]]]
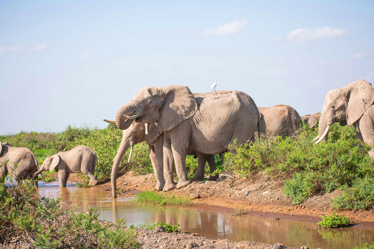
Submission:
[[[116,125],[125,130],[131,122],[157,123],[164,132],[164,169],[172,172],[173,157],[179,182],[176,188],[191,183],[187,178],[186,155],[195,151],[220,154],[229,143],[254,141],[260,129],[260,114],[250,96],[240,91],[213,91],[195,96],[184,86],[145,87],[130,103],[119,108]],[[172,175],[165,174],[164,190],[175,187]]]

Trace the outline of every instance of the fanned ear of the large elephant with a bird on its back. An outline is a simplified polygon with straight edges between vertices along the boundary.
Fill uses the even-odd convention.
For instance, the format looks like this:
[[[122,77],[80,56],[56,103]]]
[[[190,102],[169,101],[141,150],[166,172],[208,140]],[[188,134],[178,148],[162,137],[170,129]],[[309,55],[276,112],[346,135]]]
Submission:
[[[198,107],[195,97],[187,87],[168,86],[161,89],[166,92],[166,97],[157,122],[157,130],[167,131],[194,115]]]

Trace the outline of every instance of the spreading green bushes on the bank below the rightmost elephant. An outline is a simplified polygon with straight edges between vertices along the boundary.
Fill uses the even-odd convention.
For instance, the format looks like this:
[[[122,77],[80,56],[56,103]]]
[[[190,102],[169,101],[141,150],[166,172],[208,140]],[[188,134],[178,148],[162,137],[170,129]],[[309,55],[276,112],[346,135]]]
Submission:
[[[283,191],[294,204],[340,189],[346,192],[336,198],[336,208],[371,207],[374,160],[367,154],[371,147],[355,139],[352,126],[332,125],[328,141],[315,146],[311,141],[317,135],[317,130],[304,126],[296,139],[262,138],[249,145],[233,144],[225,154],[226,170],[243,177],[261,170],[284,179]],[[353,197],[361,204],[352,206]]]

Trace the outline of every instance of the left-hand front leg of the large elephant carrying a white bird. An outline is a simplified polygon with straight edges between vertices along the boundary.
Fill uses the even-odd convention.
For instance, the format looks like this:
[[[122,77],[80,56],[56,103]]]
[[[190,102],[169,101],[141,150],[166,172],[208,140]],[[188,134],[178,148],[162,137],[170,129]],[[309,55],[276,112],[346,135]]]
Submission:
[[[174,159],[173,153],[171,152],[171,142],[170,139],[166,138],[166,136],[164,136],[163,160],[165,179],[165,186],[163,190],[169,191],[174,189],[177,183],[175,183],[173,180]]]

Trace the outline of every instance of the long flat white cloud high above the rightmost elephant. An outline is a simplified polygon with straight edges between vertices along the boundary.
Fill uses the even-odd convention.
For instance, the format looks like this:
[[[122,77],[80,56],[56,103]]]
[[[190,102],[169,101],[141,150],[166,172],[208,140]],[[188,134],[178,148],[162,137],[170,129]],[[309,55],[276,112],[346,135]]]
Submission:
[[[323,38],[331,38],[336,36],[344,36],[349,34],[348,30],[332,29],[330,27],[315,29],[296,29],[287,36],[288,41],[311,41]]]

